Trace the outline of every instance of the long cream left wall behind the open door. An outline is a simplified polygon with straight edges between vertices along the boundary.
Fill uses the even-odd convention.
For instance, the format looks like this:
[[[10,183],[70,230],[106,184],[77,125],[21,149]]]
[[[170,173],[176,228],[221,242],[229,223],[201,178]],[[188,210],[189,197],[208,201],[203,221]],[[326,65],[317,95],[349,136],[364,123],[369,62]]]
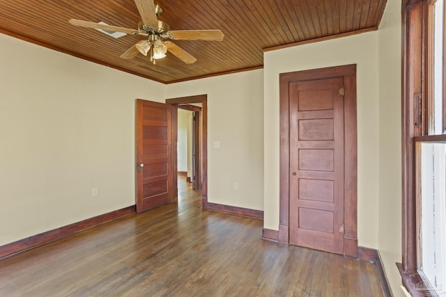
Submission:
[[[165,86],[2,34],[0,65],[0,246],[134,204],[134,100]]]

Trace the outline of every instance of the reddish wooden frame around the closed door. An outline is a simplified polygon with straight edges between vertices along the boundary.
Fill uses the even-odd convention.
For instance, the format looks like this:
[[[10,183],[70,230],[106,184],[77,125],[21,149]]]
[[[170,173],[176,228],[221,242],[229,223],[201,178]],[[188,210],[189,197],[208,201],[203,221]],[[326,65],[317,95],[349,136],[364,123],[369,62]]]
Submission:
[[[357,258],[356,64],[280,74],[279,242],[289,244],[289,83],[344,79],[344,255]]]

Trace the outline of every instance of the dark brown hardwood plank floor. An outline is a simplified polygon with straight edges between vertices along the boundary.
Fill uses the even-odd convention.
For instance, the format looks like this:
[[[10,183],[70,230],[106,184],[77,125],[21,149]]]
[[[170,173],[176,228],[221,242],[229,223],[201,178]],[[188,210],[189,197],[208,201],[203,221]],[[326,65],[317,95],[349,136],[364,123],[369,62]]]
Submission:
[[[262,220],[177,204],[0,261],[0,296],[383,296],[369,262],[261,240]]]

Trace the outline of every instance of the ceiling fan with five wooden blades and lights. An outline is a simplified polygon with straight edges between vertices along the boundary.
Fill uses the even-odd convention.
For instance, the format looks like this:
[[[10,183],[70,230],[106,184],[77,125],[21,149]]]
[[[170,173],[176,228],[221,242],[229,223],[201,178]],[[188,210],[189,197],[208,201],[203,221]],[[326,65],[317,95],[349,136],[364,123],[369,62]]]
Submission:
[[[108,24],[86,22],[80,19],[70,19],[68,22],[72,25],[86,28],[121,32],[129,35],[143,35],[146,39],[141,40],[130,47],[130,49],[121,55],[121,58],[131,59],[134,58],[134,56],[137,56],[138,53],[141,53],[144,56],[148,56],[153,64],[155,64],[157,59],[164,58],[167,51],[184,63],[192,64],[197,61],[194,56],[178,47],[174,42],[164,39],[222,41],[224,38],[224,34],[220,30],[171,31],[168,24],[157,19],[157,16],[162,13],[162,8],[155,5],[153,0],[134,0],[134,3],[137,5],[139,15],[141,15],[141,22],[138,24],[138,29],[128,29],[119,26],[110,26]]]

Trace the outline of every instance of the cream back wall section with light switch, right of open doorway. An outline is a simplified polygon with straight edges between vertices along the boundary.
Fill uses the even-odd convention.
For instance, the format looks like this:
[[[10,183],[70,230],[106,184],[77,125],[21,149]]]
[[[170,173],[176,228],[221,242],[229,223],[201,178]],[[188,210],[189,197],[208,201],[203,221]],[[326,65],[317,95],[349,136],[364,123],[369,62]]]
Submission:
[[[167,88],[168,98],[200,94],[208,95],[208,201],[263,210],[263,71]]]

